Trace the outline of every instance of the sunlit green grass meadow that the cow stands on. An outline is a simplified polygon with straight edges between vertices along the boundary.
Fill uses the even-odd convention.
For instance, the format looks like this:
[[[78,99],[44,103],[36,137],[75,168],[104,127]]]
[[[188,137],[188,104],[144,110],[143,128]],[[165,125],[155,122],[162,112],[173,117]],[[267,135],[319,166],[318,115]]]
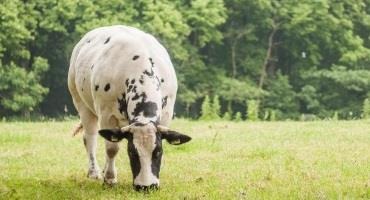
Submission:
[[[76,122],[0,122],[0,199],[370,199],[370,123],[191,122],[165,144],[161,189],[133,191],[126,142],[118,185],[86,178]],[[103,140],[98,160],[104,164]]]

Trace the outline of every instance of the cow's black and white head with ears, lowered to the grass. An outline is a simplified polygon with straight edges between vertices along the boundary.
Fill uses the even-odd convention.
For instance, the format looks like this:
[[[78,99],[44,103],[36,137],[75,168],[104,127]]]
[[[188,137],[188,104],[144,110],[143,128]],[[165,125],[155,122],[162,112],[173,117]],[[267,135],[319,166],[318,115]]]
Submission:
[[[153,123],[133,123],[121,129],[103,129],[100,135],[111,142],[127,139],[134,188],[147,190],[159,186],[159,171],[162,160],[162,139],[180,145],[191,140],[187,135],[169,130]]]

